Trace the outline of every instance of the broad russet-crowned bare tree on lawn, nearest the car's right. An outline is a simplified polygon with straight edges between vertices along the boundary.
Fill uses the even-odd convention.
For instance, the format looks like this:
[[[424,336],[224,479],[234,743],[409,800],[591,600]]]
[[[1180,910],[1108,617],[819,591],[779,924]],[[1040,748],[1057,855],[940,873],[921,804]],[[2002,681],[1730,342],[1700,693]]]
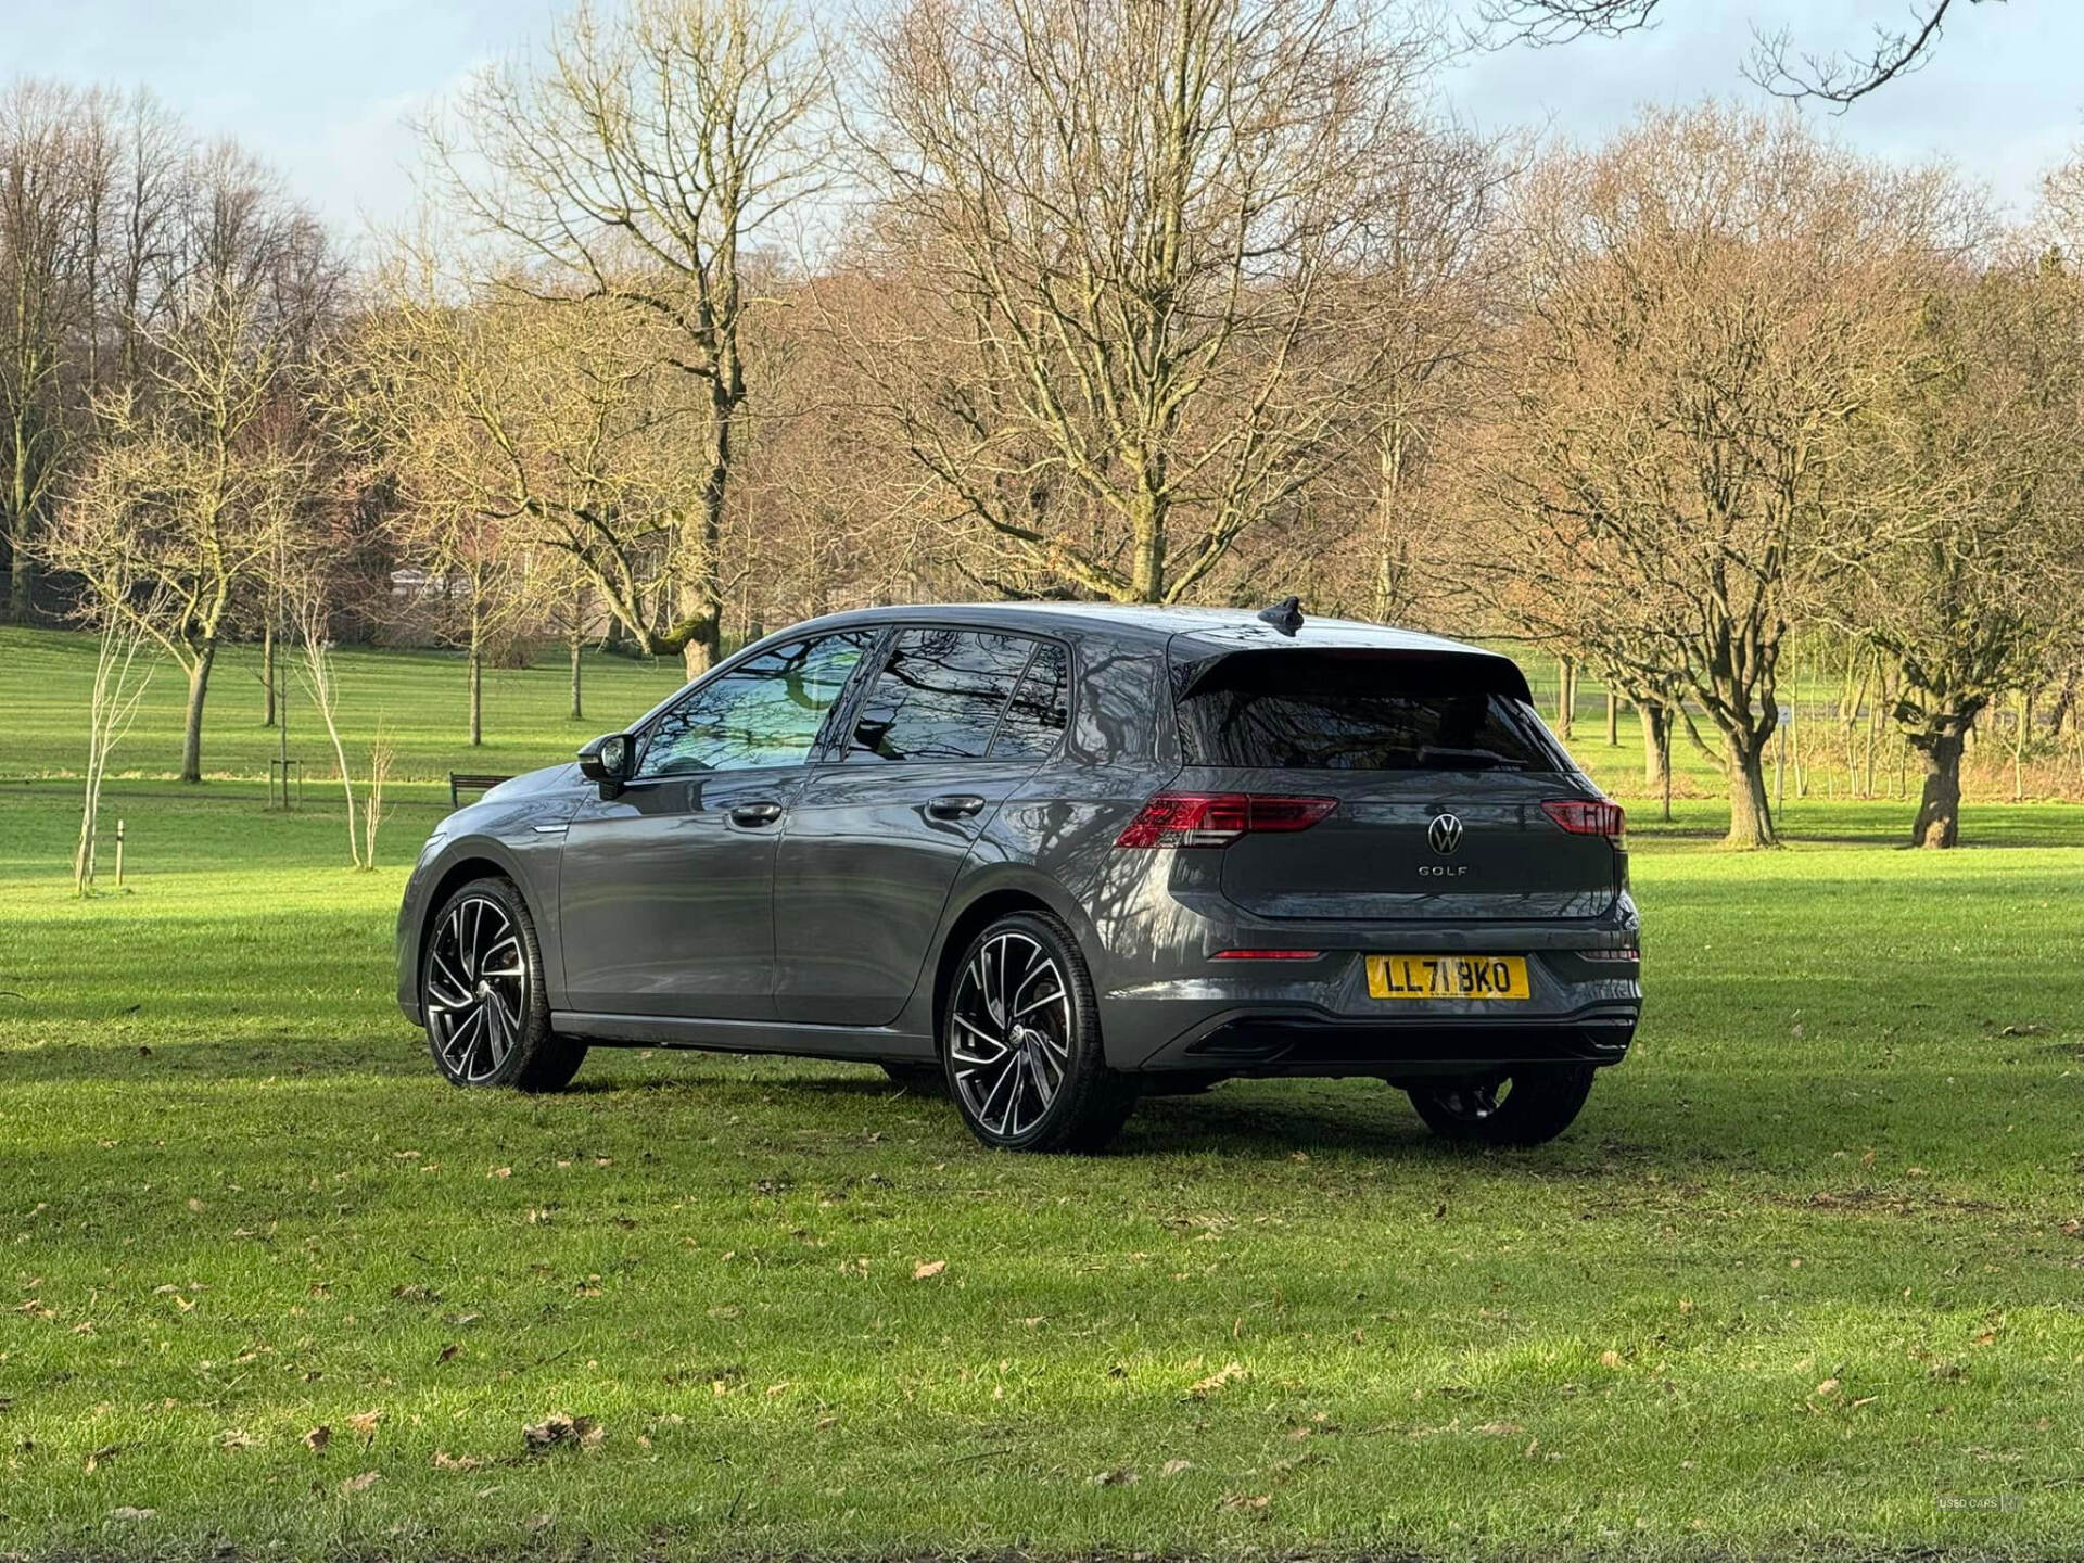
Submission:
[[[1773,842],[1790,625],[1911,525],[1849,475],[1946,200],[1721,108],[1648,115],[1530,196],[1528,321],[1471,477],[1482,590],[1638,700],[1707,713],[1732,846]]]

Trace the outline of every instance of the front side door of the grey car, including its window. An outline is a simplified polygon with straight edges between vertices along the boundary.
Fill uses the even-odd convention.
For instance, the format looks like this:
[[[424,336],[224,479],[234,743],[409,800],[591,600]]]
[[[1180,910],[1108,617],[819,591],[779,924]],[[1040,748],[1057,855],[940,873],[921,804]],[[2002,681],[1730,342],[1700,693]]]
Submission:
[[[636,775],[565,829],[565,1007],[771,1019],[782,825],[869,631],[798,640],[702,679],[642,734]]]

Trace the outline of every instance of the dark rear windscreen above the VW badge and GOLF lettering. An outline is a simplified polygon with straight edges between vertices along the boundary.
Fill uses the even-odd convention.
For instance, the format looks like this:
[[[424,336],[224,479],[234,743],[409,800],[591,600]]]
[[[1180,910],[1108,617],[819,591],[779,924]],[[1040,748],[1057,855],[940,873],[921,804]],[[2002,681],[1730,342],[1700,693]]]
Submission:
[[[1503,656],[1240,652],[1177,698],[1188,765],[1573,771]]]

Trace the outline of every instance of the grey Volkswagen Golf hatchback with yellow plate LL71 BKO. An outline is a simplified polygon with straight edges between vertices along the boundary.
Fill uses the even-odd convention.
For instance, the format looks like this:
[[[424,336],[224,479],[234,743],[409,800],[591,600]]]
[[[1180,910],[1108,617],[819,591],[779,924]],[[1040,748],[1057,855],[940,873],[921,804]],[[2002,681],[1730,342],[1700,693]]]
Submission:
[[[398,915],[458,1086],[615,1044],[857,1059],[1013,1150],[1236,1075],[1548,1140],[1638,975],[1621,809],[1519,667],[1292,598],[796,625],[450,815]]]

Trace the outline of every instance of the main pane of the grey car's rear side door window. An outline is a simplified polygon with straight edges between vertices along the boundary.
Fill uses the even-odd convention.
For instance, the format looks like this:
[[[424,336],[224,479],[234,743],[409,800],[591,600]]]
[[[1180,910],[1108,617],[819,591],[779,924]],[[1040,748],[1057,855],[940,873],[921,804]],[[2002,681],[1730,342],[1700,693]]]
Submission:
[[[979,759],[1034,648],[977,629],[900,629],[854,721],[848,759]]]

